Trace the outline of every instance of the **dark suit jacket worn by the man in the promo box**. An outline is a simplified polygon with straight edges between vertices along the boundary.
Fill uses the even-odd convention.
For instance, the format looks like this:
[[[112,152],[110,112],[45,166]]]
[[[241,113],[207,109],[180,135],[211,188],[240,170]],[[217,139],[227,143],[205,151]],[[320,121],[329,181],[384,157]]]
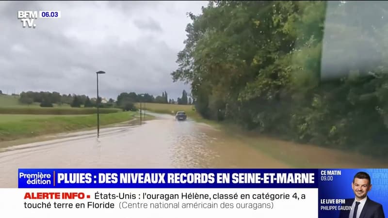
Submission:
[[[345,199],[345,204],[342,206],[352,206],[354,198]],[[350,210],[341,210],[339,218],[349,218]],[[367,197],[364,207],[362,208],[360,218],[385,218],[383,206],[380,203],[373,202]]]

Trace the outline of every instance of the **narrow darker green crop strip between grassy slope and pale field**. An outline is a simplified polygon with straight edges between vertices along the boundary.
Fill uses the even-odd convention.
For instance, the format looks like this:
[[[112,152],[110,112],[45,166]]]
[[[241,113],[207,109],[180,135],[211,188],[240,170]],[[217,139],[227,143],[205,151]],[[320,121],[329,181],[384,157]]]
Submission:
[[[100,108],[100,113],[115,113],[121,109]],[[0,114],[94,114],[97,113],[97,108],[36,108],[36,107],[9,107],[0,108]]]

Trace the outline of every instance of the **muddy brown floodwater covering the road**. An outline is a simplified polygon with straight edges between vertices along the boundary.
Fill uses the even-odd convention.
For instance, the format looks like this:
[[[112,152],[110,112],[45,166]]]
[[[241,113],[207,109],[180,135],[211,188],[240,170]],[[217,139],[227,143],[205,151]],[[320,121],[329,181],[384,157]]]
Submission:
[[[93,130],[2,148],[0,187],[17,187],[18,168],[388,167],[368,157],[262,137],[235,137],[191,120],[153,115],[157,119],[142,125],[100,129],[98,139]]]

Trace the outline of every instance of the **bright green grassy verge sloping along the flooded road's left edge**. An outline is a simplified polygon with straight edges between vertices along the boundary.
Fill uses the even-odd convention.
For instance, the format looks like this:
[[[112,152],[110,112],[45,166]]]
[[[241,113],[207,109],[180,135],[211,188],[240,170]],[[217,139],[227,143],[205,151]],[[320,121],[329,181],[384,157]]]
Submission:
[[[135,117],[137,114],[137,112],[100,114],[100,125],[111,125],[137,119]],[[94,126],[97,126],[97,114],[18,119],[0,123],[0,141],[68,132]]]

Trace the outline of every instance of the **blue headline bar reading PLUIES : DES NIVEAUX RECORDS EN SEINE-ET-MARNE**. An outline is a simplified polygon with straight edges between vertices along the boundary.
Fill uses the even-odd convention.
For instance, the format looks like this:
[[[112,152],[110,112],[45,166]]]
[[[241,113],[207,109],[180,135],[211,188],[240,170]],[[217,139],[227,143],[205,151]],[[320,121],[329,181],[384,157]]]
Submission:
[[[317,188],[318,169],[19,169],[19,188]]]

